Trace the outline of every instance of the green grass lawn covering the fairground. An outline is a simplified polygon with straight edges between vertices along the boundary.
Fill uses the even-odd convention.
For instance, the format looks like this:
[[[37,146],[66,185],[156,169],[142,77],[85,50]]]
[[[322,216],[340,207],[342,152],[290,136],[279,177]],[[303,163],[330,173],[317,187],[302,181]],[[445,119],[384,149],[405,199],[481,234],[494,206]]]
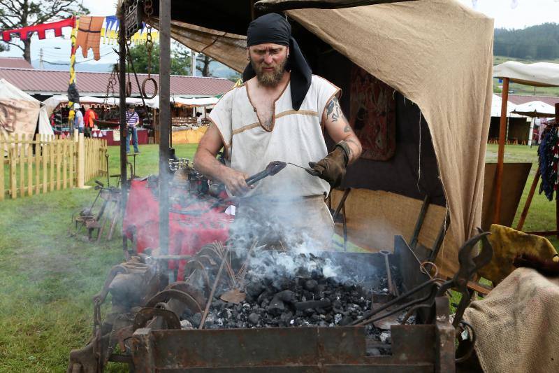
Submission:
[[[192,157],[196,146],[176,148],[179,157]],[[157,145],[140,151],[136,174],[157,174]],[[488,146],[489,162],[496,153],[496,146]],[[118,174],[119,148],[109,147],[109,155],[110,174]],[[537,162],[536,148],[507,146],[505,160]],[[91,298],[123,260],[117,237],[97,245],[68,234],[72,213],[89,206],[95,195],[93,188],[71,189],[0,203],[0,372],[65,372],[69,351],[87,343]],[[553,229],[554,205],[536,195],[526,229]],[[108,367],[124,371],[122,365]]]

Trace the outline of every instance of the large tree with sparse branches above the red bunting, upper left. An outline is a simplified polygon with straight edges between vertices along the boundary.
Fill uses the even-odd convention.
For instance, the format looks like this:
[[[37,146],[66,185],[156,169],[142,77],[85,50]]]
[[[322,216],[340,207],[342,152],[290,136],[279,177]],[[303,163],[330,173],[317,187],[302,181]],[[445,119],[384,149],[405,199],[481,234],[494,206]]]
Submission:
[[[2,0],[0,2],[0,27],[19,29],[45,22],[65,19],[75,13],[89,14],[79,0]],[[19,43],[8,42],[20,48],[24,59],[31,63],[31,38]]]

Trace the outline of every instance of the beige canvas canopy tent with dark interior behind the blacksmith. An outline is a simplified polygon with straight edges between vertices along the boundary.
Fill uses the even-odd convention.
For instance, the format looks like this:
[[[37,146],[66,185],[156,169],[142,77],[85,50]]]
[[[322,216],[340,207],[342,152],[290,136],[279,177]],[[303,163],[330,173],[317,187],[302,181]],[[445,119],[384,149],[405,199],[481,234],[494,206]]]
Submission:
[[[154,10],[147,22],[158,27],[159,1],[154,1]],[[409,238],[415,223],[408,199],[400,195],[414,201],[429,195],[443,207],[430,206],[423,226],[433,225],[435,232],[422,232],[419,240],[430,246],[448,209],[451,225],[438,262],[442,273],[455,272],[460,244],[481,223],[493,20],[455,0],[285,13],[313,72],[344,90],[344,111],[349,90],[342,75],[348,66],[382,80],[398,97],[393,159],[361,159],[348,170],[344,187],[355,188],[347,199],[348,225],[358,220],[356,227],[361,224],[373,232],[370,240],[386,232],[377,249],[391,248],[391,234]],[[237,71],[245,68],[244,34],[252,17],[259,15],[250,2],[171,1],[171,14],[175,40]],[[421,202],[413,206],[419,213]]]

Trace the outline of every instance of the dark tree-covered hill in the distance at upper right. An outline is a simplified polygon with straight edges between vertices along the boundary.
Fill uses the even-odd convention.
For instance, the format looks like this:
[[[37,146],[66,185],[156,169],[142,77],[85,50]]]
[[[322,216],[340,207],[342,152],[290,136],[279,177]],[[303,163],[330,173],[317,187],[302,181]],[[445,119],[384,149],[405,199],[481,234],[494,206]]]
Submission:
[[[495,29],[494,55],[521,59],[559,58],[559,24],[544,23],[525,29]]]

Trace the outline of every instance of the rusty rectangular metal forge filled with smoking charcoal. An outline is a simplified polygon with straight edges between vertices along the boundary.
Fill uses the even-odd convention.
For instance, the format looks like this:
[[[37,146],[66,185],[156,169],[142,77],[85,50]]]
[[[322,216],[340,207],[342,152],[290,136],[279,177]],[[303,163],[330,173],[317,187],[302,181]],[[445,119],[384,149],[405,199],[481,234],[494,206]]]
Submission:
[[[128,345],[138,372],[453,372],[447,297],[436,298],[430,323],[412,316],[401,324],[403,315],[395,314],[382,320],[383,329],[377,322],[346,325],[391,299],[382,255],[321,253],[307,255],[305,265],[285,257],[245,265],[242,255],[231,255],[232,269],[222,265],[219,286],[210,289],[219,277],[215,260],[207,279],[189,279],[211,294],[207,311],[183,309],[179,330],[147,325],[133,333]],[[393,277],[402,293],[428,280],[401,237],[390,261],[401,270]],[[230,279],[235,273],[242,274],[238,283]],[[244,294],[238,304],[222,300],[235,299],[236,292]]]

